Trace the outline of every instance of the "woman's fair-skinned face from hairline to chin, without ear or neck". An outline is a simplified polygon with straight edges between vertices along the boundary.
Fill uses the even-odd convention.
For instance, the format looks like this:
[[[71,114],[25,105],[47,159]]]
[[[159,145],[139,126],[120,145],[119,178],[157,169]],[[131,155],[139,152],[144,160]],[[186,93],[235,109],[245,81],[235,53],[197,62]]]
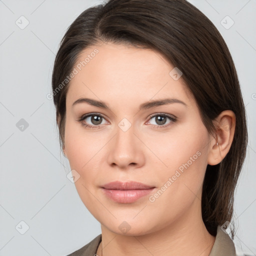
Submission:
[[[77,64],[88,54],[69,84],[64,134],[64,153],[84,205],[112,232],[121,234],[126,225],[128,235],[199,214],[210,137],[182,76],[177,79],[170,73],[174,66],[150,49],[95,45],[82,51]],[[91,100],[74,103],[81,98]],[[130,201],[136,192],[120,201],[115,190],[116,201],[102,188],[111,181],[154,188]]]

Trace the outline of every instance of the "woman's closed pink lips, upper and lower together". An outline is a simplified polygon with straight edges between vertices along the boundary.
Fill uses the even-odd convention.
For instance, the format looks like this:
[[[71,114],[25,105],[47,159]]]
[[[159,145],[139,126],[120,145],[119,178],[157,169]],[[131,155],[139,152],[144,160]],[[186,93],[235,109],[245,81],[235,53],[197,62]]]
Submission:
[[[101,188],[104,194],[112,200],[120,203],[131,203],[150,193],[154,186],[135,181],[113,181],[104,184]]]

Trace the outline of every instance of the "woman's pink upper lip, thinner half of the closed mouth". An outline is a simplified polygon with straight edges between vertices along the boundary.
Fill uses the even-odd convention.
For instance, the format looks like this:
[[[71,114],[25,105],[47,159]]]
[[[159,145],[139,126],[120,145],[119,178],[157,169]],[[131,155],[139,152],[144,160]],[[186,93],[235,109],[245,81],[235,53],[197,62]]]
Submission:
[[[102,186],[105,189],[119,189],[119,190],[131,190],[131,189],[148,189],[154,186],[146,185],[136,181],[112,181]]]

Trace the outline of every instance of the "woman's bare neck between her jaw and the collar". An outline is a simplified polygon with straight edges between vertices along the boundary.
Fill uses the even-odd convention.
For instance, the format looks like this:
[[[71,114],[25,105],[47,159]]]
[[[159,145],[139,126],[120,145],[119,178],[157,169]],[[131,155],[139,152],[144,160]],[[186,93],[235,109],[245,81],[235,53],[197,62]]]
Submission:
[[[137,236],[117,234],[101,224],[102,239],[97,254],[208,256],[215,237],[208,233],[198,210],[200,207],[197,207],[197,211],[192,210],[196,214],[187,212],[160,230]]]

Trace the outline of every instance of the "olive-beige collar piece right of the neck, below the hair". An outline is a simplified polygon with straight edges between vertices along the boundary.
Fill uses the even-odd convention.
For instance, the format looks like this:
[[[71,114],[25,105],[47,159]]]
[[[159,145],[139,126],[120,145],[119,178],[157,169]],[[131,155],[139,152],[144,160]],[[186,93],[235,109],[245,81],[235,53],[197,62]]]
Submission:
[[[220,226],[209,256],[235,256],[235,247],[232,239]]]

